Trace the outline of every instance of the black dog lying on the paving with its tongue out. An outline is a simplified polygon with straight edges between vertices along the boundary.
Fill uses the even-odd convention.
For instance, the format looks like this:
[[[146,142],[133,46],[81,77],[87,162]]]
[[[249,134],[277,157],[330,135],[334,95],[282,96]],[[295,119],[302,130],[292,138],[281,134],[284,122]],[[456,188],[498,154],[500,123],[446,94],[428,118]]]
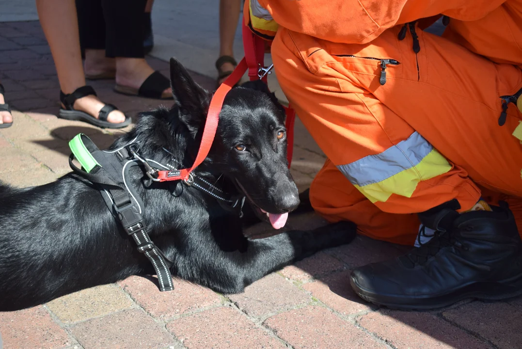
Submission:
[[[144,157],[187,168],[199,147],[211,94],[179,62],[170,64],[175,105],[142,113],[111,149],[137,138]],[[259,91],[263,83],[247,85],[228,93],[212,148],[195,173],[224,191],[243,191],[280,227],[299,204],[286,160],[284,112],[273,94]],[[181,181],[151,182],[137,166],[131,178],[146,207],[151,239],[173,261],[172,274],[217,292],[242,292],[267,273],[347,244],[355,235],[355,226],[345,222],[247,239],[239,215],[204,192]],[[0,185],[0,311],[140,273],[153,273],[151,263],[88,180],[69,173],[38,187]]]

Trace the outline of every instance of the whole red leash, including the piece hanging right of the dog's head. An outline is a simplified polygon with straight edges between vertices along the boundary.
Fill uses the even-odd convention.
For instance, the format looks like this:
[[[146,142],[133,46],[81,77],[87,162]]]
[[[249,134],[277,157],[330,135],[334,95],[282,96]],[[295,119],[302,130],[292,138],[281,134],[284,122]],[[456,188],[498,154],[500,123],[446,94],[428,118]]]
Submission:
[[[241,80],[243,74],[248,69],[248,77],[250,80],[261,79],[267,83],[267,75],[261,76],[259,69],[264,67],[265,62],[265,42],[263,39],[254,35],[248,29],[246,25],[243,25],[243,46],[245,49],[245,56],[241,59],[241,62],[234,69],[232,74],[223,81],[219,88],[214,93],[207,114],[207,121],[205,122],[205,128],[203,129],[203,136],[201,137],[201,144],[196,155],[196,160],[190,169],[172,170],[172,171],[158,171],[158,179],[160,182],[167,180],[188,180],[189,176],[194,169],[205,160],[212,146],[214,137],[216,136],[216,130],[219,122],[219,112],[223,106],[223,100],[227,93],[232,87]],[[291,107],[283,105],[284,111],[287,115],[286,128],[287,128],[287,144],[288,144],[288,167],[292,162],[293,154],[293,128],[295,121],[295,112]]]

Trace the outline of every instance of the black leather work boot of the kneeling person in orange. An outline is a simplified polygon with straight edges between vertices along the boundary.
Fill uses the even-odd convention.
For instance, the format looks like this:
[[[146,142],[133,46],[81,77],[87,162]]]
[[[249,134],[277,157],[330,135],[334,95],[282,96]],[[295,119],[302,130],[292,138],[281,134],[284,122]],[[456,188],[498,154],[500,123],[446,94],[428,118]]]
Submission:
[[[462,214],[458,208],[450,201],[419,214],[422,224],[436,231],[431,240],[404,256],[354,269],[355,293],[396,309],[522,294],[522,240],[507,204]]]

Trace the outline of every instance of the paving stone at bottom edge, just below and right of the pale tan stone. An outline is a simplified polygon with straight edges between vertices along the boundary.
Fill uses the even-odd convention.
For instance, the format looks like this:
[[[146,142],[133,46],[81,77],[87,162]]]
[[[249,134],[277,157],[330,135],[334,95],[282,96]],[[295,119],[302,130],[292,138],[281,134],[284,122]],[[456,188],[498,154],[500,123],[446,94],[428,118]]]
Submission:
[[[175,340],[143,310],[124,310],[69,328],[85,349],[160,349]]]

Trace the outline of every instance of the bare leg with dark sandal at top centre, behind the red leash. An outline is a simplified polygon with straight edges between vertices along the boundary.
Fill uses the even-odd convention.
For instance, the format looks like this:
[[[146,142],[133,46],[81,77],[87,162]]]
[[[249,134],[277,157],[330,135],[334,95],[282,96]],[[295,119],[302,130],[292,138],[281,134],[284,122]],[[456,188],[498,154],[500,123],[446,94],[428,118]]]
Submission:
[[[219,1],[219,56],[234,56],[234,35],[238,28],[241,0]],[[232,71],[234,66],[223,63],[221,70]],[[224,79],[219,82],[223,82]]]

